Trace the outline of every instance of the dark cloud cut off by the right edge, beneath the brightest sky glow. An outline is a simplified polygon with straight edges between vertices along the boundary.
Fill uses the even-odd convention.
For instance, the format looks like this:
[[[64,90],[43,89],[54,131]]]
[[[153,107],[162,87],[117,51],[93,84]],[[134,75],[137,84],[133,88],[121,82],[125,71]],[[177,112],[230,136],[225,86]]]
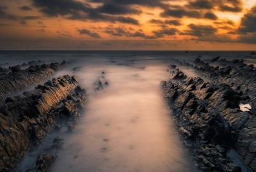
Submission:
[[[241,18],[238,32],[241,34],[256,32],[256,6]]]

